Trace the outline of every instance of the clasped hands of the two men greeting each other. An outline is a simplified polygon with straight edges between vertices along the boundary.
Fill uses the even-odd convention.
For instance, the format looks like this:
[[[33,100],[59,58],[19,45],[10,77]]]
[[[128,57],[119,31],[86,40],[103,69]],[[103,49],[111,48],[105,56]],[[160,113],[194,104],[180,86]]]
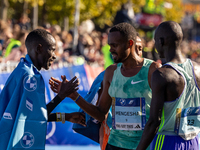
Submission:
[[[61,78],[62,82],[52,77],[49,80],[49,84],[52,91],[58,93],[58,96],[64,99],[65,97],[70,97],[70,94],[78,90],[79,81],[76,76],[70,81],[66,79],[66,76],[61,76]]]

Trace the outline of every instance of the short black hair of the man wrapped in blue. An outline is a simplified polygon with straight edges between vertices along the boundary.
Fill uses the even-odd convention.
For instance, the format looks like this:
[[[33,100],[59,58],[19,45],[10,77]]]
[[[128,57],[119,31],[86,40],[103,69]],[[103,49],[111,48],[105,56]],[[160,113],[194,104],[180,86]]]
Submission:
[[[32,46],[32,45],[36,45],[36,44],[38,45],[44,42],[49,43],[50,36],[52,36],[51,33],[44,29],[35,29],[31,31],[25,40],[25,45],[27,47],[27,50],[29,46]]]

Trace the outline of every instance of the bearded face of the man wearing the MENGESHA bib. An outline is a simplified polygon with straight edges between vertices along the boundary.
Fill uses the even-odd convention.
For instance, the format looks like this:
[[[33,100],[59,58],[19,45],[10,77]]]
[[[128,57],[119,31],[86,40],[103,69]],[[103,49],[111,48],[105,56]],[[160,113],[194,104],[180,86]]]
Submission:
[[[108,44],[115,63],[123,62],[129,56],[127,43],[118,31],[108,34]]]

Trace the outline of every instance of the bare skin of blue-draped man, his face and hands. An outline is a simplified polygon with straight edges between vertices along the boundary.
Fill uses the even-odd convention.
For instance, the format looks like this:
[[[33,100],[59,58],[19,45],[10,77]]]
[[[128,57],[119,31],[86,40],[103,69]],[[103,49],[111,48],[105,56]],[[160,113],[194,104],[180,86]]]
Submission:
[[[33,62],[33,65],[41,70],[42,68],[48,70],[56,59],[55,49],[56,41],[52,35],[47,35],[47,40],[33,41],[31,43],[26,43],[28,54]],[[66,80],[63,76],[63,81],[61,82],[61,88],[57,96],[49,102],[47,107],[48,121],[56,121],[56,114],[51,112],[53,109],[67,96],[78,90],[78,79],[73,77],[70,81]],[[65,120],[73,123],[80,123],[85,125],[85,117],[82,113],[65,113]]]

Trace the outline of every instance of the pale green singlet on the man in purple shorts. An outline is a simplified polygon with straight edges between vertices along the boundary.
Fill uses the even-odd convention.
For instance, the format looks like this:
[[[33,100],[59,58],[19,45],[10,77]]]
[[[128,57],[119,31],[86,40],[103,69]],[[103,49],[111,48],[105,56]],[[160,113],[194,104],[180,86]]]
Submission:
[[[187,59],[183,64],[175,64],[169,62],[165,65],[169,65],[176,70],[185,80],[185,87],[179,98],[172,102],[165,102],[161,124],[159,127],[159,134],[174,135],[176,110],[177,108],[186,109],[190,107],[200,106],[200,90],[196,83],[194,76],[194,69],[190,59]],[[191,126],[192,127],[192,126]]]

